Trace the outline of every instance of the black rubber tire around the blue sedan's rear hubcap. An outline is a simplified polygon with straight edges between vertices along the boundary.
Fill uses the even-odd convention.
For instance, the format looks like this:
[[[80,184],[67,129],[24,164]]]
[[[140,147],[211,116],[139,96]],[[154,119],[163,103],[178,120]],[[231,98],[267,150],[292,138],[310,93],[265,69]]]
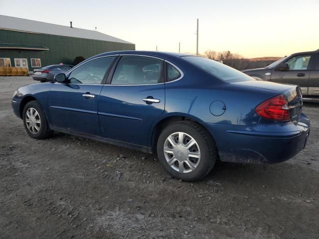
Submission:
[[[200,148],[201,156],[199,164],[191,172],[180,173],[168,165],[165,159],[163,150],[164,143],[166,138],[174,132],[189,134],[196,140]],[[172,123],[163,129],[158,139],[157,153],[160,163],[171,176],[188,182],[200,180],[205,177],[213,169],[218,158],[216,144],[210,133],[200,124],[189,120]]]

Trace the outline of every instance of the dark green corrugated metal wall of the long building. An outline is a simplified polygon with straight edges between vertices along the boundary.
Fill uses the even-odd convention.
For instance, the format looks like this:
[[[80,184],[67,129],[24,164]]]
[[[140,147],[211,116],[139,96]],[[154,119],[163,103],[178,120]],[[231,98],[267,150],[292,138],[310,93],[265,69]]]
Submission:
[[[29,70],[34,69],[31,67],[30,58],[40,58],[43,67],[59,63],[72,64],[76,56],[89,58],[108,51],[135,50],[135,44],[1,29],[0,43],[38,45],[49,48],[49,51],[0,49],[0,57],[9,57],[11,66],[14,66],[14,58],[26,58]]]

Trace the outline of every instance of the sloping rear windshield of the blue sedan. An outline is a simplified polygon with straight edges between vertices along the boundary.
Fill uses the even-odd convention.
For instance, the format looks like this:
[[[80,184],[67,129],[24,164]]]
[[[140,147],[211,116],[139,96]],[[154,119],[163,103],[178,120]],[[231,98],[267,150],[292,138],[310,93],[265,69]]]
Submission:
[[[215,76],[226,82],[240,82],[240,81],[253,81],[255,79],[250,76],[237,71],[236,69],[219,63],[217,61],[213,61],[204,57],[199,56],[184,56],[186,61],[198,66],[204,71],[208,72],[212,76]]]

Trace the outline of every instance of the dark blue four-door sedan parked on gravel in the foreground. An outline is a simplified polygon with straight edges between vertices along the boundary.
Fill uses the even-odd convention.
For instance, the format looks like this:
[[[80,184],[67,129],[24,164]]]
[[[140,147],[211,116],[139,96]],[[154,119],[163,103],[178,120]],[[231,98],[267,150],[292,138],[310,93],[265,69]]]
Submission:
[[[310,132],[298,86],[256,81],[198,56],[108,52],[54,80],[14,93],[13,111],[29,136],[55,130],[157,152],[184,181],[203,178],[216,160],[288,160]]]

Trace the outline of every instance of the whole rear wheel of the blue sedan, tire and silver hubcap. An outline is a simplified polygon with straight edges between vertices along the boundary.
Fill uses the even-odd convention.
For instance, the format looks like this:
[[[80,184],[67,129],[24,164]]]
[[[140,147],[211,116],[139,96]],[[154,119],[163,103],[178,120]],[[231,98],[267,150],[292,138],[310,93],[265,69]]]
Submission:
[[[213,168],[218,157],[212,136],[192,121],[170,124],[160,133],[157,144],[160,163],[175,178],[194,181]]]

